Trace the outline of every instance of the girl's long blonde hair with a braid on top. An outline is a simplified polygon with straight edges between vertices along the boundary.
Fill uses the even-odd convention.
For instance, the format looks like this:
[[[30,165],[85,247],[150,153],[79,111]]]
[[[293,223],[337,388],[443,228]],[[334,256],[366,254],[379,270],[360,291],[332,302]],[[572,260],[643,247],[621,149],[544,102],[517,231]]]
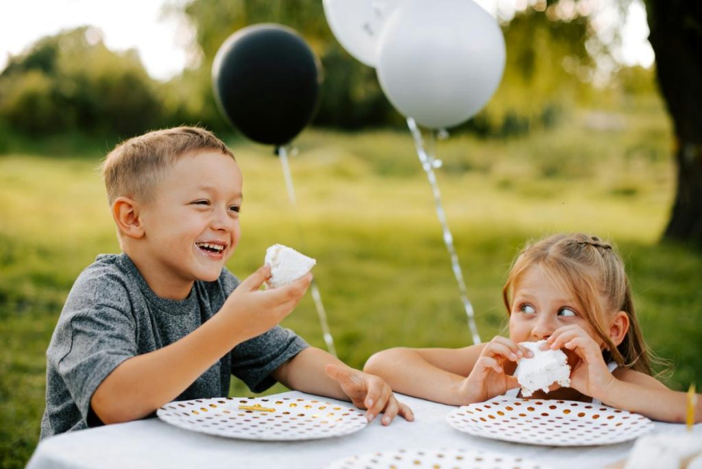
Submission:
[[[578,300],[586,319],[606,345],[605,362],[614,360],[619,366],[651,374],[651,357],[636,319],[629,280],[614,246],[582,233],[555,234],[528,245],[517,256],[502,290],[508,314],[515,284],[533,265],[540,266],[545,275]],[[629,329],[624,340],[615,346],[607,333],[605,317],[618,311],[629,317]]]

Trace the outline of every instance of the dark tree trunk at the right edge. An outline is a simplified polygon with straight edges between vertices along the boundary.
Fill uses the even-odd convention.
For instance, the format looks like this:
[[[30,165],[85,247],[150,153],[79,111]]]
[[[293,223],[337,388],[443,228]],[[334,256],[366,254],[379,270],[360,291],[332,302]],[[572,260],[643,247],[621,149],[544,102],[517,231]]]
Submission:
[[[676,140],[677,190],[663,238],[702,245],[702,2],[647,0],[646,7]]]

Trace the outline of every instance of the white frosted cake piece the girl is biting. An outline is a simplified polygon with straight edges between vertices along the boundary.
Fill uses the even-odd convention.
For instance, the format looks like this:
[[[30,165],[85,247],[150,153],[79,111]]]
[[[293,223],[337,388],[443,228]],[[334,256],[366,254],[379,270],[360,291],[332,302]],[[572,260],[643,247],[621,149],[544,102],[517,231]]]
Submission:
[[[520,359],[515,371],[524,397],[531,396],[539,389],[548,392],[548,387],[553,383],[570,386],[570,366],[566,354],[562,350],[541,350],[544,343],[546,341],[519,343],[534,352],[533,358]]]

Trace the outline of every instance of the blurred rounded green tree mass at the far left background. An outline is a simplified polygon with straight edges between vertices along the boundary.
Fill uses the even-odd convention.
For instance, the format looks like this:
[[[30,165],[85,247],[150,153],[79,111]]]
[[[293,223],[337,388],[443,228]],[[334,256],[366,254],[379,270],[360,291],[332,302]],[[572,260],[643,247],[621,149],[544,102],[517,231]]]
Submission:
[[[161,121],[157,87],[135,51],[115,53],[93,27],[37,41],[0,74],[0,118],[27,133],[132,136]]]

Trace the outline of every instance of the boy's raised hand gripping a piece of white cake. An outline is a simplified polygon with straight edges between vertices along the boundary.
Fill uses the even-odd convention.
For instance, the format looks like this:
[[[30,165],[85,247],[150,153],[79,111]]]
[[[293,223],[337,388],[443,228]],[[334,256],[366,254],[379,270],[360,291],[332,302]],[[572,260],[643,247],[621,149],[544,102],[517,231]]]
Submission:
[[[312,282],[312,274],[307,274],[289,285],[261,290],[269,277],[270,267],[263,265],[246,277],[225,302],[225,308],[230,311],[227,314],[236,317],[237,333],[244,340],[277,326],[293,312]]]

